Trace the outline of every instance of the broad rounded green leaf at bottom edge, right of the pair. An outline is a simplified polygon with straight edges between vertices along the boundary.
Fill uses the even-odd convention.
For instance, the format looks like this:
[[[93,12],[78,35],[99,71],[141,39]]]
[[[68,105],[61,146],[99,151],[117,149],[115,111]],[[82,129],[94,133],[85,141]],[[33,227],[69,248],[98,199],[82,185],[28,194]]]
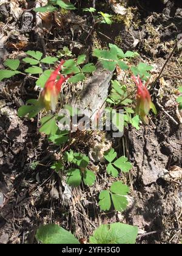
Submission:
[[[135,244],[138,227],[115,222],[103,224],[89,238],[90,244]]]

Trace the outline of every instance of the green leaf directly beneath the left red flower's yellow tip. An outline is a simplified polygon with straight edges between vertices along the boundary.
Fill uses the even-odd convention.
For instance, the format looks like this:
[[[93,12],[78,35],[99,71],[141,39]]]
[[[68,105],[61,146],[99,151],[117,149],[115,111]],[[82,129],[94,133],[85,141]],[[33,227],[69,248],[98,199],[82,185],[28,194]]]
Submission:
[[[39,132],[43,132],[47,135],[49,134],[56,134],[58,131],[58,126],[56,125],[56,116],[48,115],[44,116],[41,119],[41,128],[39,129]]]

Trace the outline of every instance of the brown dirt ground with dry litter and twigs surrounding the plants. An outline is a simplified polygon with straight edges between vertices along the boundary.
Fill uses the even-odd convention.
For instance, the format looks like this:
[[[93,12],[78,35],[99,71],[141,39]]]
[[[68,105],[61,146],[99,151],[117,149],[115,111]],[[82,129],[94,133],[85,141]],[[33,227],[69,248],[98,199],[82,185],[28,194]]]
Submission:
[[[42,21],[41,32],[32,10],[35,1],[13,2],[0,2],[0,68],[7,57],[22,59],[29,49],[55,55],[63,46],[95,62],[91,56],[94,47],[115,43],[124,51],[137,51],[138,60],[155,67],[150,91],[158,115],[150,116],[150,125],[140,130],[129,127],[118,140],[110,139],[109,134],[84,133],[79,143],[73,144],[73,150],[90,155],[93,144],[106,148],[112,143],[118,154],[125,153],[133,164],[124,176],[130,186],[129,207],[122,214],[104,213],[98,206],[98,194],[113,181],[106,179],[104,164],[90,163],[97,176],[94,186],[66,191],[66,184],[50,169],[59,157],[58,148],[39,133],[37,118],[20,119],[17,115],[22,102],[38,96],[33,80],[19,75],[0,82],[0,195],[4,197],[2,202],[0,196],[0,243],[37,243],[37,227],[50,222],[87,240],[100,224],[115,221],[138,226],[138,244],[180,243],[182,118],[175,99],[182,84],[181,50],[174,51],[163,77],[156,79],[182,34],[182,2],[117,1],[124,3],[127,11],[119,15],[112,9],[115,1],[96,0],[96,10],[111,13],[114,22],[110,29],[106,24],[96,26],[87,40],[92,20],[81,8],[93,6],[93,1],[71,1],[78,9],[62,14],[64,27],[58,17],[50,16],[51,22]],[[72,193],[70,199],[68,193]]]

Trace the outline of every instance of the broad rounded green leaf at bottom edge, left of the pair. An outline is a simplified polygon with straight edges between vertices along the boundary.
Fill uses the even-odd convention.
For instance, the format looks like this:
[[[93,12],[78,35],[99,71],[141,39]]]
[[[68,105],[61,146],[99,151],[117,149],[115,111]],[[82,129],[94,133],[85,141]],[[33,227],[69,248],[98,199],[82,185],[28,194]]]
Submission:
[[[36,231],[36,240],[42,244],[79,244],[69,231],[56,224],[47,224]]]

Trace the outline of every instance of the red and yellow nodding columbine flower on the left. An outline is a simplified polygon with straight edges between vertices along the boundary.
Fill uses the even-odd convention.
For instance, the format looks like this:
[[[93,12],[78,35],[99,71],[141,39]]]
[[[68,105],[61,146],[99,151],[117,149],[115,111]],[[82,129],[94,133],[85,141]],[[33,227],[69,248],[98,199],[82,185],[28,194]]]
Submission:
[[[45,83],[44,90],[41,92],[40,100],[44,104],[46,110],[52,110],[55,112],[56,105],[58,103],[59,93],[61,91],[62,84],[69,79],[69,76],[64,77],[59,73],[61,66],[64,64],[64,60],[61,60],[58,68],[56,68],[51,74],[47,82]],[[57,77],[59,77],[57,79]]]

